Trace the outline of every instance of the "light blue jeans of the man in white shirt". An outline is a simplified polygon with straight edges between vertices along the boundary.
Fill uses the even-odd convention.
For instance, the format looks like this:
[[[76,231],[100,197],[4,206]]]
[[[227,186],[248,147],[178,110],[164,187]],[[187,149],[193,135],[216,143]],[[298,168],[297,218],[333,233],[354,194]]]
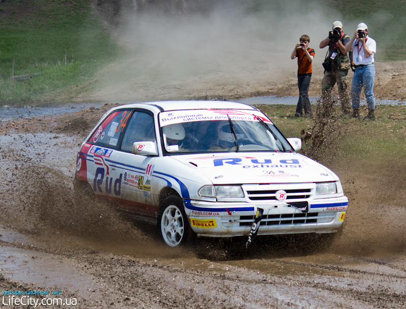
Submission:
[[[366,104],[369,109],[375,109],[374,96],[375,65],[369,64],[355,69],[351,85],[351,106],[359,108],[361,89],[364,87]]]

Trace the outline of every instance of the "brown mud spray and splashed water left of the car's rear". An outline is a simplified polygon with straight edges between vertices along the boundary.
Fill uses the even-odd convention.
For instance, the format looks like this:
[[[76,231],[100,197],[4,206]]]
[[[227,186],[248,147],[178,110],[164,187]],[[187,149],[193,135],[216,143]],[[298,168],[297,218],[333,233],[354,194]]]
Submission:
[[[77,142],[54,134],[3,136],[0,224],[44,245],[87,246],[137,257],[171,256],[155,227],[130,221],[114,207],[75,194]],[[66,167],[72,168],[66,168]],[[167,249],[167,250],[166,250]]]

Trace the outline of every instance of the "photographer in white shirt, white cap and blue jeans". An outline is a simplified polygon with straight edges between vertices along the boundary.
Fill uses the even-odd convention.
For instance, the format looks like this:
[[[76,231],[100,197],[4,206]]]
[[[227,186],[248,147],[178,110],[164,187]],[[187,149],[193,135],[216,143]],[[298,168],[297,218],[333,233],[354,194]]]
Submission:
[[[354,37],[345,46],[347,51],[353,51],[353,61],[355,66],[354,76],[351,86],[351,106],[353,117],[359,118],[359,103],[361,88],[364,88],[368,114],[364,119],[375,120],[375,59],[377,52],[377,42],[368,36],[368,27],[361,22],[357,26]]]

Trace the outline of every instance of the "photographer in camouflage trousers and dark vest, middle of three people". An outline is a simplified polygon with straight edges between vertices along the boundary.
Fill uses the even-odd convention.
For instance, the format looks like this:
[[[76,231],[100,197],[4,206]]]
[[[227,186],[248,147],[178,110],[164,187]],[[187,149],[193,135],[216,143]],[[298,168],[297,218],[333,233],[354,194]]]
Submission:
[[[336,20],[328,37],[320,42],[320,48],[328,46],[324,59],[324,76],[321,81],[322,102],[331,100],[331,91],[337,83],[341,109],[344,115],[351,113],[350,97],[348,94],[348,70],[351,67],[349,53],[345,50],[350,37],[344,33],[343,24]]]

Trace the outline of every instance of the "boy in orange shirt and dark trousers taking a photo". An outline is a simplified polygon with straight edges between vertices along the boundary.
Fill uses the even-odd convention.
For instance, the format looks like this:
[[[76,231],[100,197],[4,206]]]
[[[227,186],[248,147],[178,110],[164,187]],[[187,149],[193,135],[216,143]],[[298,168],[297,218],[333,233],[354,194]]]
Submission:
[[[309,86],[312,79],[312,61],[315,56],[313,48],[309,48],[310,38],[308,35],[302,35],[299,39],[299,43],[296,43],[295,48],[290,55],[291,59],[297,57],[297,85],[299,86],[299,100],[297,101],[297,107],[295,117],[301,117],[303,115],[313,116],[312,107],[309,100]]]

